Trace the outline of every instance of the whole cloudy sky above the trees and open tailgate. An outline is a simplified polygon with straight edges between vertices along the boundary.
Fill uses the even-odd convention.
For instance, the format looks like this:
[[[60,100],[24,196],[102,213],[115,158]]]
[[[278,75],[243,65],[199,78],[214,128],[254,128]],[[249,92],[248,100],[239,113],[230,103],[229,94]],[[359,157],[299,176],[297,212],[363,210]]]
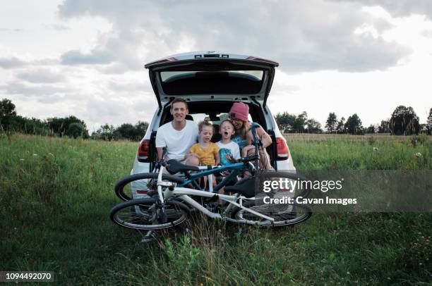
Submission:
[[[432,107],[432,1],[4,1],[0,99],[35,118],[150,120],[143,64],[218,50],[280,63],[273,113],[359,114],[365,126]]]

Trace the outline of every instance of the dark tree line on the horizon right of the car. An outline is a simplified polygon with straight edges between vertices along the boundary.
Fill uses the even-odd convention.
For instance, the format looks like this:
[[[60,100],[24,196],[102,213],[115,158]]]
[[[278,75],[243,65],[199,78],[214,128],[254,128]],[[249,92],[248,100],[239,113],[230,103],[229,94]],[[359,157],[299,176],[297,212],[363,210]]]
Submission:
[[[425,132],[431,135],[432,131],[432,108],[426,124],[419,123],[419,116],[416,115],[411,106],[397,106],[390,118],[381,120],[380,124],[369,125],[365,128],[361,119],[354,113],[346,120],[338,118],[334,112],[330,112],[325,121],[324,130],[320,123],[313,118],[308,119],[306,111],[296,116],[291,113],[277,113],[275,116],[277,125],[284,133],[329,133],[329,134],[352,134],[364,135],[366,133],[390,133],[391,135],[414,135]]]

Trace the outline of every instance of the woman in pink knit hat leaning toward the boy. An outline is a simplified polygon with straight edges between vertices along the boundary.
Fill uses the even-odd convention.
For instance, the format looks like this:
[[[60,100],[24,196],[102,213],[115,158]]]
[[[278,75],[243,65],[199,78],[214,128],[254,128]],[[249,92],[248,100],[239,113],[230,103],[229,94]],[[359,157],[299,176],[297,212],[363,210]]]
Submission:
[[[232,120],[232,124],[236,129],[236,135],[232,138],[232,141],[239,144],[241,156],[246,157],[253,155],[255,152],[255,146],[253,146],[253,135],[251,131],[251,122],[248,120],[249,106],[243,102],[234,102],[231,110],[228,113],[229,119]],[[256,134],[258,138],[263,142],[263,147],[259,149],[260,156],[260,168],[271,170],[270,156],[268,156],[265,147],[272,144],[272,137],[268,135],[263,128],[256,128]]]

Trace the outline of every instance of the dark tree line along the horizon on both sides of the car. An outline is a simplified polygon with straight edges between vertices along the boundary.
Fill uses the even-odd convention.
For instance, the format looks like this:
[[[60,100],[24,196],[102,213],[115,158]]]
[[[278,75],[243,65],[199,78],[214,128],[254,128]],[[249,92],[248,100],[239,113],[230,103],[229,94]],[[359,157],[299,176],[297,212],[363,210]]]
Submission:
[[[346,120],[344,117],[338,118],[334,112],[329,113],[325,121],[324,130],[321,124],[313,119],[308,118],[306,111],[298,116],[292,113],[277,113],[275,116],[277,125],[284,133],[329,133],[329,134],[352,134],[363,135],[365,133],[390,133],[392,135],[413,135],[419,132],[426,132],[431,135],[432,131],[432,108],[426,124],[419,123],[419,117],[416,116],[411,106],[397,106],[392,112],[390,118],[381,120],[380,124],[370,125],[364,128],[359,116],[354,113]],[[76,116],[65,118],[47,118],[40,120],[37,118],[25,118],[16,113],[16,106],[9,99],[0,101],[0,132],[20,132],[32,135],[45,136],[68,136],[72,138],[84,139],[102,139],[107,141],[129,139],[139,141],[145,135],[148,123],[138,121],[135,125],[124,123],[114,128],[113,125],[105,123],[98,130],[89,135],[84,120]]]

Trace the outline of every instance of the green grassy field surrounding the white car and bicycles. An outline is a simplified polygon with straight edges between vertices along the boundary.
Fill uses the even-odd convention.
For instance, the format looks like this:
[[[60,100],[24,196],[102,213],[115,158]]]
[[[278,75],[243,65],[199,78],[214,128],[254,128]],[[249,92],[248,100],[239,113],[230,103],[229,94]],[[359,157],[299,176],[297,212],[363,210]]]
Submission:
[[[415,147],[409,137],[287,139],[299,170],[432,169],[427,137]],[[54,271],[61,285],[432,282],[431,213],[316,214],[274,230],[196,218],[192,238],[169,232],[142,244],[139,232],[108,218],[136,148],[0,136],[0,270]]]

